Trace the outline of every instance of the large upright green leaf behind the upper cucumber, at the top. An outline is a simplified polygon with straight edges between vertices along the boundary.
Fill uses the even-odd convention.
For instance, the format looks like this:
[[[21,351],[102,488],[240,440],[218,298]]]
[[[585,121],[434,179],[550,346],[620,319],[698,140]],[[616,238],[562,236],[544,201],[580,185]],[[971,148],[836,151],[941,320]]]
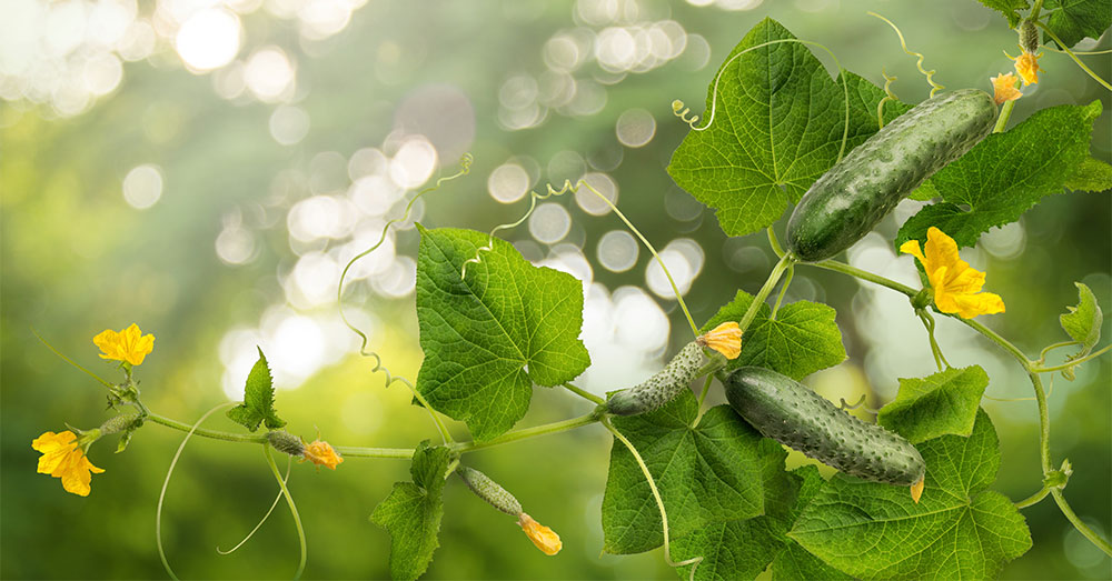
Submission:
[[[788,202],[798,201],[834,164],[846,131],[846,90],[845,152],[878,128],[876,103],[884,92],[855,74],[846,76],[843,89],[803,44],[780,42],[734,59],[747,48],[794,38],[778,22],[765,19],[742,39],[707,88],[704,117],[709,127],[688,132],[668,166],[679,187],[716,209],[718,223],[729,236],[775,222]],[[886,103],[885,117],[894,118],[902,107]]]

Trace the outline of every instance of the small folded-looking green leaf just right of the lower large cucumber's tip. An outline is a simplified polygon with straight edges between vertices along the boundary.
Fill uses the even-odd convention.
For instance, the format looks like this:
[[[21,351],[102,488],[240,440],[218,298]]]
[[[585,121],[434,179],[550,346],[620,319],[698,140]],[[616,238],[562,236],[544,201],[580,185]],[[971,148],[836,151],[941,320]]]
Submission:
[[[923,379],[901,379],[900,393],[881,408],[876,423],[920,443],[973,432],[989,374],[980,365],[951,368]]]

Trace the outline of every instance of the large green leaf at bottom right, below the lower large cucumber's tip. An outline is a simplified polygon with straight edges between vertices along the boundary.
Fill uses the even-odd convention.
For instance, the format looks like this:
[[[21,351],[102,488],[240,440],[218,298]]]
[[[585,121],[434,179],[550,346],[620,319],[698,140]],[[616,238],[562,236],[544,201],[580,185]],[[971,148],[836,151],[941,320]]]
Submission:
[[[862,579],[986,579],[1031,548],[1015,505],[986,490],[1000,468],[996,431],[984,411],[969,438],[919,447],[926,461],[920,503],[904,487],[836,474],[788,537]]]

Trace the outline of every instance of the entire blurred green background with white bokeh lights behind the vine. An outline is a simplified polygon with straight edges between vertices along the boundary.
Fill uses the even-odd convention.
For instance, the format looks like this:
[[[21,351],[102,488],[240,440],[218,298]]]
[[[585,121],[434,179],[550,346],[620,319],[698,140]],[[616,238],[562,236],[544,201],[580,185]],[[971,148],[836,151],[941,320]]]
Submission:
[[[357,357],[336,315],[339,268],[368,247],[399,200],[456,171],[470,176],[418,204],[430,227],[488,230],[517,219],[526,188],[587,174],[657,246],[667,248],[686,300],[705,320],[737,288],[755,292],[772,266],[763,236],[727,239],[713,214],[665,172],[687,127],[674,99],[702,113],[717,63],[765,17],[830,47],[844,67],[916,102],[929,87],[895,34],[898,23],[949,88],[989,88],[1011,70],[1016,37],[972,0],[159,0],[0,4],[0,209],[2,209],[2,561],[7,579],[162,578],[155,505],[181,433],[148,424],[113,454],[79,498],[36,474],[30,441],[66,423],[103,421],[105,394],[31,334],[110,380],[92,337],[137,322],[156,335],[138,369],[147,404],[191,422],[241,397],[261,345],[275,367],[289,429],[336,444],[411,447],[434,438],[404,387]],[[1082,49],[1108,48],[1108,40]],[[826,59],[826,57],[822,57]],[[1108,78],[1109,56],[1086,57]],[[832,67],[831,62],[826,62]],[[1015,107],[1088,103],[1108,92],[1064,54]],[[1110,116],[1092,153],[1110,160]],[[503,203],[509,201],[514,203]],[[404,203],[404,201],[403,201]],[[915,211],[894,217],[851,250],[854,264],[914,280],[891,240]],[[675,301],[647,253],[631,254],[618,220],[590,200],[554,199],[505,232],[538,263],[562,268],[588,291],[584,340],[603,392],[652,373],[686,342]],[[1048,199],[1021,222],[963,253],[989,270],[1007,313],[985,322],[1029,354],[1065,337],[1058,314],[1084,281],[1112,310],[1112,208],[1108,192]],[[782,224],[781,224],[782,227]],[[356,270],[351,314],[388,367],[409,378],[420,363],[413,305],[417,236],[411,224]],[[896,378],[932,371],[925,334],[898,295],[800,268],[788,300],[838,310],[850,359],[811,378],[836,399],[870,393],[880,405]],[[989,394],[1030,395],[1021,370],[962,325],[940,322],[955,365],[980,363]],[[1105,338],[1112,337],[1105,325]],[[671,338],[671,340],[669,340]],[[1066,497],[1105,538],[1112,532],[1112,391],[1109,358],[1076,381],[1055,380],[1052,452],[1074,477]],[[721,397],[716,393],[715,397]],[[852,401],[852,399],[851,399]],[[1001,438],[995,488],[1013,499],[1041,485],[1034,402],[985,401]],[[584,413],[564,392],[537,389],[519,425]],[[217,414],[214,429],[235,427]],[[466,438],[461,424],[453,424]],[[428,579],[672,578],[661,552],[600,555],[599,507],[609,438],[598,427],[467,457],[560,533],[564,550],[535,550],[513,520],[457,481]],[[793,454],[793,462],[802,461]],[[408,462],[349,459],[337,471],[295,465],[290,487],[308,534],[306,577],[388,575],[389,541],[368,522]],[[171,481],[163,538],[182,578],[291,574],[297,541],[285,507],[240,551],[221,557],[269,507],[276,485],[257,447],[196,439]],[[1023,511],[1034,548],[1012,579],[1109,579],[1112,564],[1054,504]]]

